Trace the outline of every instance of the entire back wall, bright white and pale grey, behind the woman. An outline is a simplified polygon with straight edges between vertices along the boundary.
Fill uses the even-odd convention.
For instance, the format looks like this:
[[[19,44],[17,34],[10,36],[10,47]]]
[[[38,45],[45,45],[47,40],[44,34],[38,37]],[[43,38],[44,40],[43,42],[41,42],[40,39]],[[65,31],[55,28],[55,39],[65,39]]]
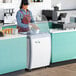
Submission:
[[[3,19],[3,8],[14,8],[15,13],[13,18],[16,19],[16,12],[19,10],[21,0],[12,0],[13,3],[0,3],[0,20]],[[52,6],[61,3],[61,8],[76,8],[76,0],[43,0],[40,3],[30,3],[29,9],[32,11],[32,14],[35,16],[41,15],[42,9],[52,9]],[[68,12],[69,15],[75,15],[75,12]]]

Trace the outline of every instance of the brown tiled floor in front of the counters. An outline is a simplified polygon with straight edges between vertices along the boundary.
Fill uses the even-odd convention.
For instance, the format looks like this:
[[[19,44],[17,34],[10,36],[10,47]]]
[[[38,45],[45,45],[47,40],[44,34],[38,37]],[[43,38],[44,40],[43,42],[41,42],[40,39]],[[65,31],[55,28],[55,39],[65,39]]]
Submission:
[[[32,72],[25,72],[22,70],[2,76],[76,76],[76,63],[56,67],[41,68],[33,70]]]

